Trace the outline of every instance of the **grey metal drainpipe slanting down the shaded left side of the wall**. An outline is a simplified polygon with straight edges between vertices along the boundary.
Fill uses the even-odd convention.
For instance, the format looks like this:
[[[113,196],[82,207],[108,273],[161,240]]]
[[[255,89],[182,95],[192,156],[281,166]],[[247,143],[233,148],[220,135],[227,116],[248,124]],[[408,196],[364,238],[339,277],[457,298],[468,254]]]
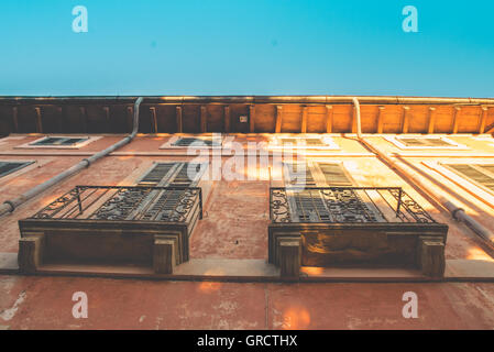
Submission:
[[[56,175],[55,177],[44,182],[43,184],[37,185],[34,188],[31,188],[30,190],[28,190],[26,193],[22,194],[21,196],[17,197],[14,199],[11,199],[11,200],[6,200],[0,206],[0,217],[2,217],[6,213],[13,212],[19,206],[21,206],[22,204],[26,202],[31,198],[40,195],[41,193],[45,191],[50,187],[61,183],[65,178],[70,177],[74,174],[77,174],[81,169],[89,167],[92,163],[95,163],[99,158],[101,158],[103,156],[107,156],[111,152],[113,152],[113,151],[118,150],[119,147],[130,143],[135,138],[135,135],[138,134],[138,130],[139,130],[139,107],[140,107],[141,102],[142,102],[142,100],[143,100],[143,98],[140,97],[134,102],[134,116],[133,116],[134,119],[133,119],[133,129],[132,129],[132,133],[131,134],[125,136],[123,140],[117,142],[116,144],[107,147],[106,150],[103,150],[101,152],[98,152],[98,153],[94,154],[92,156],[90,156],[88,158],[81,160],[78,164],[74,165],[70,168],[67,168],[65,172],[63,172],[63,173]]]

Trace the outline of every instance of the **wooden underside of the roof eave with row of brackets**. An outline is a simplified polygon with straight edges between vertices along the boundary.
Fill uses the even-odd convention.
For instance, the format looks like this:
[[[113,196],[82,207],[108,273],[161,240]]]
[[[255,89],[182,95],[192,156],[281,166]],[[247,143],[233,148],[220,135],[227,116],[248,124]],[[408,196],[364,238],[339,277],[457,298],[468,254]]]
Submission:
[[[361,97],[363,133],[492,133],[494,99]],[[134,97],[0,97],[0,134],[129,133]],[[243,122],[242,122],[243,120]],[[352,133],[349,97],[146,97],[141,133]]]

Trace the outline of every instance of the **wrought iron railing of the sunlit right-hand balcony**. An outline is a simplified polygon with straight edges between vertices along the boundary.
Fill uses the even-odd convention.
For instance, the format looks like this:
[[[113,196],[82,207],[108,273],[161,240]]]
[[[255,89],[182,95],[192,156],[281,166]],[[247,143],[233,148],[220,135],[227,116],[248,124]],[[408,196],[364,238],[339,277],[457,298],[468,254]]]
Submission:
[[[399,187],[271,188],[274,223],[435,223]]]

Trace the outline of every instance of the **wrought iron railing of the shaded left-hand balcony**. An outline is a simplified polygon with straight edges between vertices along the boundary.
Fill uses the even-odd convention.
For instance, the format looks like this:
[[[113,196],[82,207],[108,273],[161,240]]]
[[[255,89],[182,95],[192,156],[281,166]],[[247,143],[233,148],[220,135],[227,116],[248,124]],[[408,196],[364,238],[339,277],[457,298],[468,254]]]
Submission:
[[[185,222],[199,187],[76,186],[30,219]]]

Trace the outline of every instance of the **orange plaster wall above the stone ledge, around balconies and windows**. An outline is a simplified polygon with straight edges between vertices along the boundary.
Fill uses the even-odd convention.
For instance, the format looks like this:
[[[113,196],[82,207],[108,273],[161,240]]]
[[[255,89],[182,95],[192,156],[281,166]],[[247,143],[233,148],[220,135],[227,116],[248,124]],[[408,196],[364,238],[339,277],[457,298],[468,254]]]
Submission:
[[[244,134],[232,135],[230,140],[240,143],[245,150],[246,144],[267,144],[263,147],[275,151],[268,144],[273,135]],[[476,189],[465,190],[451,180],[436,173],[425,163],[431,162],[485,162],[494,161],[494,140],[474,135],[454,135],[451,140],[466,146],[465,150],[399,150],[384,136],[371,136],[369,140],[380,150],[389,155],[402,155],[415,167],[431,177],[430,189],[444,193],[454,199],[468,213],[494,231],[494,208],[479,197]],[[56,148],[20,148],[20,145],[40,139],[40,135],[12,135],[0,140],[1,161],[35,161],[34,164],[14,174],[0,178],[0,201],[11,199],[23,191],[50,179],[62,170],[76,164],[83,157],[102,150],[117,142],[120,136],[102,136],[78,150]],[[2,231],[0,248],[2,252],[18,250],[19,219],[32,216],[62,194],[76,185],[131,185],[143,175],[153,162],[191,161],[196,156],[188,155],[187,148],[160,148],[171,139],[171,135],[140,135],[132,143],[114,152],[78,175],[61,183],[43,195],[30,200],[14,213],[1,219]],[[338,150],[295,151],[299,161],[342,162],[347,172],[358,186],[403,187],[422,208],[437,221],[450,227],[447,258],[486,258],[488,255],[476,243],[475,234],[464,226],[452,220],[449,212],[435,206],[430,199],[425,199],[411,185],[407,184],[395,172],[389,169],[372,153],[363,147],[352,135],[332,135]],[[223,174],[230,157],[224,152],[222,157]],[[205,156],[206,158],[211,156]],[[243,179],[213,180],[212,193],[205,205],[205,218],[196,228],[191,239],[193,257],[228,257],[228,258],[265,258],[267,255],[266,237],[268,224],[268,187],[276,185],[273,178],[279,176],[279,169],[270,164],[249,165],[244,160],[243,169],[238,170]],[[249,178],[249,179],[248,179]],[[278,183],[279,184],[279,183]],[[282,183],[283,184],[283,183]],[[482,190],[487,193],[486,190]],[[494,196],[493,196],[494,197]]]

